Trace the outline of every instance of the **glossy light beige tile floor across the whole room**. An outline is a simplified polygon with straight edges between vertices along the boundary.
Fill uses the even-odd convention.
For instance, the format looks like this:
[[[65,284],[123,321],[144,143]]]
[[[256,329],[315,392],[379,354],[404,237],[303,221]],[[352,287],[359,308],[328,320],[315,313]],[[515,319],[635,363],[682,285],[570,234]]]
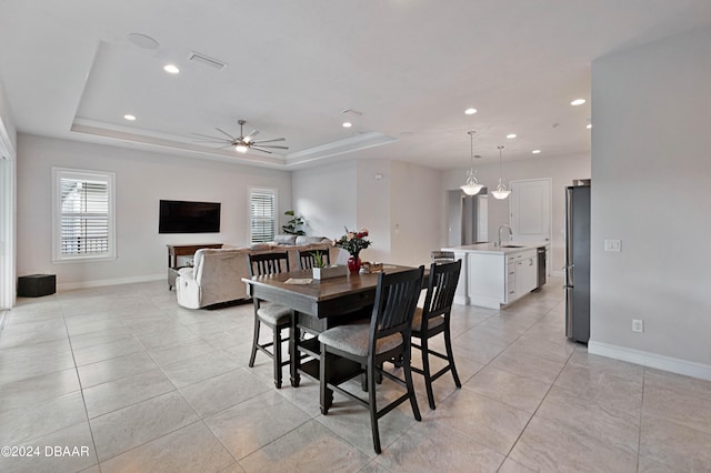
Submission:
[[[361,407],[337,394],[323,416],[317,383],[276,390],[267,358],[247,366],[250,304],[181,309],[163,282],[20,300],[0,332],[0,446],[39,456],[0,471],[711,471],[711,383],[568,342],[560,288],[457,306],[462,389],[440,379],[431,411],[415,375],[422,422],[385,415],[381,455]]]

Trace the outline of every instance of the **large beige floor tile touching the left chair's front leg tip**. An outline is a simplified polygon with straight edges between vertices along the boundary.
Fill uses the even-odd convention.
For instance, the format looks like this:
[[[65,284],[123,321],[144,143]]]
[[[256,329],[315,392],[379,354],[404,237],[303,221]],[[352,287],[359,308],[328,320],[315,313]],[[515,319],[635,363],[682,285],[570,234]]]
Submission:
[[[318,402],[318,401],[317,401]],[[206,424],[236,459],[273,442],[311,417],[274,391],[207,417]]]

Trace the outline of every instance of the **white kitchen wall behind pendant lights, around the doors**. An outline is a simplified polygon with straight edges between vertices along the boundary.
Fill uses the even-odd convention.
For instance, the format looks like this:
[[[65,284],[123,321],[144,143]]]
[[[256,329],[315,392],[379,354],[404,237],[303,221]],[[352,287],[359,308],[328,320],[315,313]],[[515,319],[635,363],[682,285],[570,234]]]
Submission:
[[[497,153],[498,155],[498,153]],[[477,165],[477,179],[494,190],[499,182],[499,162]],[[503,178],[507,185],[510,181],[524,179],[551,178],[552,188],[552,228],[551,240],[551,270],[554,274],[562,274],[560,269],[565,262],[565,241],[563,239],[563,217],[565,213],[565,188],[571,185],[574,179],[590,179],[590,157],[573,155],[564,158],[531,158],[530,160],[510,161],[503,163]],[[455,190],[464,183],[465,170],[448,171],[442,174],[442,188]],[[594,184],[593,184],[594,185]],[[489,241],[499,238],[499,225],[509,223],[509,201],[489,199]],[[441,245],[447,245],[447,222],[442,223]]]

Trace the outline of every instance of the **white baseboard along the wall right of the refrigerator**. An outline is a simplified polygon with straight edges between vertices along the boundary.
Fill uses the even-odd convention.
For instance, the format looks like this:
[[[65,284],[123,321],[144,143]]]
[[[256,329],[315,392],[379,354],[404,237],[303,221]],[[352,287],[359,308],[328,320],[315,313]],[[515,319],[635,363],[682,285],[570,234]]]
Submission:
[[[592,340],[588,342],[588,353],[711,381],[711,366],[703,363],[628,349],[627,346],[593,342]]]

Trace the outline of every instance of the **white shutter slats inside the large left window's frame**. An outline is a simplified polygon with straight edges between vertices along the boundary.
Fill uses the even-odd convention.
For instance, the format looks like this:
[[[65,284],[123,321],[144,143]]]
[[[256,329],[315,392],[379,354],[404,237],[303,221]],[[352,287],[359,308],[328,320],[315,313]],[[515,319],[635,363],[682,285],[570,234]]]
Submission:
[[[61,254],[109,254],[109,183],[60,179]]]

